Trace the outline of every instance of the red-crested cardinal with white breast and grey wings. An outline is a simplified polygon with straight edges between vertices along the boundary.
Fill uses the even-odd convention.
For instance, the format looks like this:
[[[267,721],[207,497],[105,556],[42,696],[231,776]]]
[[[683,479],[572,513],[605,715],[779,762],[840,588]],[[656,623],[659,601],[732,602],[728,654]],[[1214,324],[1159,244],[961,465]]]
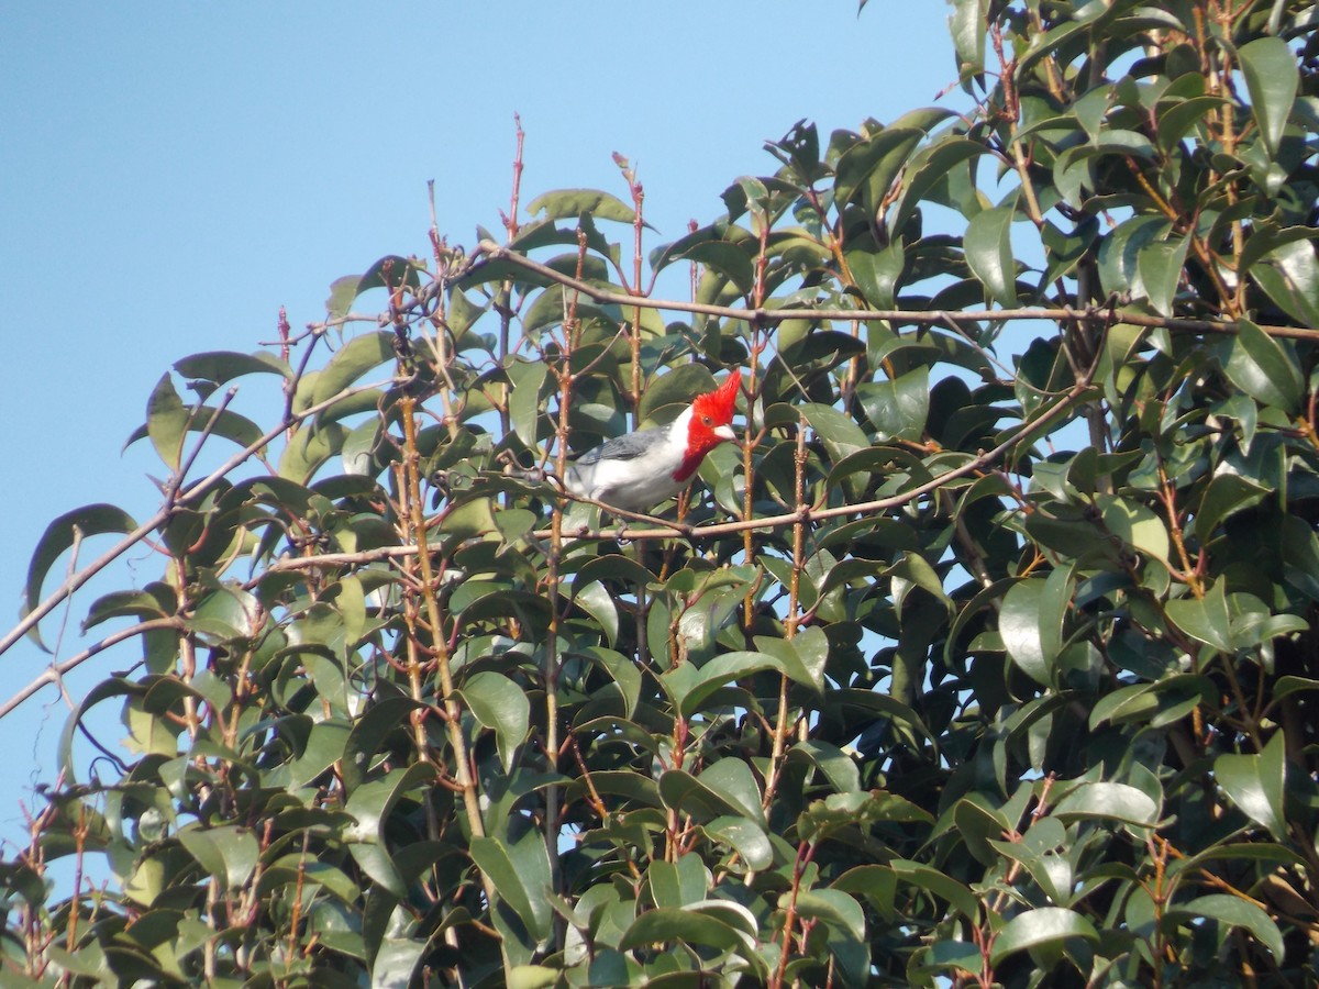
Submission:
[[[736,439],[733,402],[741,375],[729,375],[714,392],[696,396],[667,426],[637,430],[588,450],[568,465],[563,487],[572,494],[642,512],[677,494],[706,454]]]

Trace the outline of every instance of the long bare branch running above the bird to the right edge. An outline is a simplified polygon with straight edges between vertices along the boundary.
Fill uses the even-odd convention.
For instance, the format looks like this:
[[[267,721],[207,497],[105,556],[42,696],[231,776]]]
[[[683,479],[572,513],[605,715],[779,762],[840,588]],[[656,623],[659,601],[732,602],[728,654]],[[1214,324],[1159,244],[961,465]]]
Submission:
[[[1134,313],[1130,310],[1112,309],[1109,306],[1087,306],[1086,309],[1072,309],[1071,306],[1054,309],[984,309],[963,310],[950,313],[947,310],[905,310],[905,309],[745,309],[736,306],[715,306],[704,302],[683,302],[681,299],[652,299],[644,295],[629,295],[621,291],[609,291],[590,282],[574,278],[570,274],[557,272],[539,261],[533,261],[516,251],[500,247],[492,240],[483,240],[479,245],[480,253],[489,261],[508,261],[542,278],[579,291],[587,298],[609,306],[640,306],[642,309],[660,309],[675,313],[696,313],[706,316],[721,319],[741,319],[748,323],[766,324],[782,323],[787,319],[857,319],[861,322],[888,320],[894,323],[919,323],[935,326],[939,323],[966,323],[984,322],[1013,322],[1020,319],[1049,319],[1054,322],[1079,319],[1088,323],[1129,323],[1150,328],[1175,330],[1192,334],[1224,334],[1237,332],[1236,322],[1215,319],[1182,319],[1177,316],[1151,316],[1148,313]],[[477,270],[481,261],[472,264],[471,270]],[[1269,336],[1287,338],[1293,340],[1319,340],[1319,330],[1306,330],[1295,326],[1260,326]]]

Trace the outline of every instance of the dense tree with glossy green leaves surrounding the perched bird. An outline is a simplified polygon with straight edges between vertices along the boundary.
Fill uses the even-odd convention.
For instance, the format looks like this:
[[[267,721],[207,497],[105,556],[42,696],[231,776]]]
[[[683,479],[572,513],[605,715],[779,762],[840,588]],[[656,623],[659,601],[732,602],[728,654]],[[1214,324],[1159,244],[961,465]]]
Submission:
[[[501,241],[178,361],[160,510],[55,520],[0,646],[73,543],[162,549],[62,665],[140,655],[3,864],[7,976],[1319,978],[1315,25],[958,0],[971,115],[799,123],[661,247],[625,161],[528,222],[514,178]],[[546,476],[723,369],[677,506]]]

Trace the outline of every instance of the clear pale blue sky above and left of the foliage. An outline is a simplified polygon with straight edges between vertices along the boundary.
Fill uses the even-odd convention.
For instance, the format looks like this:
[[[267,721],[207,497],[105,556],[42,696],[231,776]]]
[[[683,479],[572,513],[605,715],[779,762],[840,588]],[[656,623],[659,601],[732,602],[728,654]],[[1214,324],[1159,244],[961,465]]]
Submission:
[[[16,616],[46,524],[108,501],[138,518],[164,468],[121,447],[179,357],[252,351],[323,315],[330,282],[386,253],[426,253],[426,182],[441,231],[475,241],[508,208],[513,115],[522,202],[561,187],[627,198],[638,169],[650,247],[718,216],[762,150],[814,120],[827,140],[934,104],[956,79],[935,0],[160,3],[0,7],[0,613]],[[958,94],[947,98],[958,105]],[[95,549],[95,547],[92,547]],[[54,587],[62,566],[47,588]],[[125,582],[160,567],[133,556]],[[75,600],[58,657],[86,642]],[[46,641],[59,638],[61,613]],[[0,622],[0,632],[9,622]],[[0,663],[0,702],[49,657]],[[79,696],[131,661],[99,657]],[[67,709],[54,690],[0,725],[0,840],[51,782]],[[102,741],[121,732],[112,721]],[[8,849],[12,852],[12,847]]]

